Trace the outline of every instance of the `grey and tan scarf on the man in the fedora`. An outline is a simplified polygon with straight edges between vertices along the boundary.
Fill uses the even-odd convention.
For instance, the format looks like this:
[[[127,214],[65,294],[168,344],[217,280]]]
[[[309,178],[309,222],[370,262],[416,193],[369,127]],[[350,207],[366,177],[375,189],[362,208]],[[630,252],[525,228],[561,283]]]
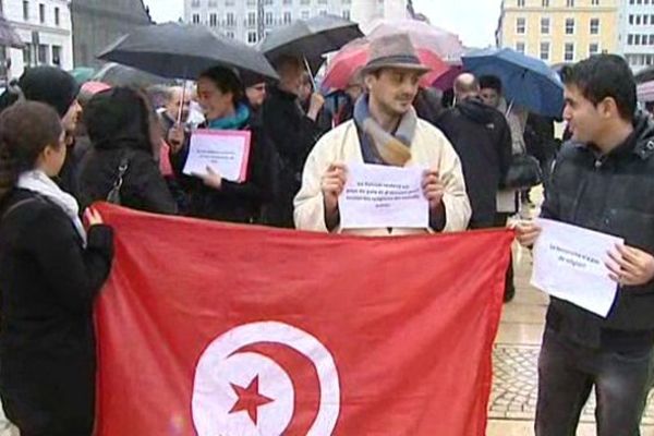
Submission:
[[[363,133],[361,150],[366,164],[403,167],[411,159],[411,143],[415,135],[417,116],[413,107],[402,116],[393,134],[386,132],[373,119],[368,96],[363,95],[354,105],[354,122]]]

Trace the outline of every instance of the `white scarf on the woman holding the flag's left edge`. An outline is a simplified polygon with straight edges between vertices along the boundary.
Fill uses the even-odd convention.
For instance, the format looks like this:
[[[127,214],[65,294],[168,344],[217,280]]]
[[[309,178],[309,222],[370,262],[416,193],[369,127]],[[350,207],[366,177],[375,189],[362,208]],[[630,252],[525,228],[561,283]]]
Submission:
[[[75,197],[61,191],[57,183],[55,183],[48,175],[46,175],[45,172],[40,170],[23,172],[19,177],[16,186],[40,194],[50,202],[55,203],[57,206],[61,207],[61,209],[72,221],[80,238],[82,238],[83,245],[86,246],[86,230],[84,230],[84,226],[80,219],[80,205],[77,204]]]

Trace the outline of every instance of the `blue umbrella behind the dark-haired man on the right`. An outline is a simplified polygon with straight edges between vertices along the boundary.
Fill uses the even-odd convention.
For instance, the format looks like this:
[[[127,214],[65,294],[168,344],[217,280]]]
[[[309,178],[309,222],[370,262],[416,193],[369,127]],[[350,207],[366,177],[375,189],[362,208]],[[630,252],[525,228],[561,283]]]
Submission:
[[[561,117],[564,85],[545,62],[510,48],[473,51],[462,61],[463,68],[477,77],[486,74],[499,77],[507,100],[531,112]]]

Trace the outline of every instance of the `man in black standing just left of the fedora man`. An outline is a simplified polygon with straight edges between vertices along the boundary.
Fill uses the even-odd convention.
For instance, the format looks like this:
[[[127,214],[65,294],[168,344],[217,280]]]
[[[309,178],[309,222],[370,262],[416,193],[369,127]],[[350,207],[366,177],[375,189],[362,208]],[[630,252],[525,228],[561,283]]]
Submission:
[[[304,161],[322,131],[316,120],[325,105],[317,93],[310,97],[308,109],[302,109],[299,95],[304,73],[299,58],[281,57],[275,63],[279,83],[271,86],[264,102],[264,130],[277,150],[275,199],[265,207],[264,222],[293,228],[293,198],[302,179]]]

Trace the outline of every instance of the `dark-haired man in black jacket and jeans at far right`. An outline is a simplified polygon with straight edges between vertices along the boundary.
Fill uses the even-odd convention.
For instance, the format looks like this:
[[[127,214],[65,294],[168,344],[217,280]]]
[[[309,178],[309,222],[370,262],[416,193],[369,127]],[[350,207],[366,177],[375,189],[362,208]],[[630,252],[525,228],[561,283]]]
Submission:
[[[542,216],[614,234],[607,254],[618,283],[606,318],[552,298],[538,362],[536,435],[573,435],[591,388],[597,434],[637,435],[654,349],[654,124],[635,114],[635,84],[622,58],[592,57],[564,72],[564,118],[572,133],[554,169]],[[540,229],[518,226],[531,246]]]

